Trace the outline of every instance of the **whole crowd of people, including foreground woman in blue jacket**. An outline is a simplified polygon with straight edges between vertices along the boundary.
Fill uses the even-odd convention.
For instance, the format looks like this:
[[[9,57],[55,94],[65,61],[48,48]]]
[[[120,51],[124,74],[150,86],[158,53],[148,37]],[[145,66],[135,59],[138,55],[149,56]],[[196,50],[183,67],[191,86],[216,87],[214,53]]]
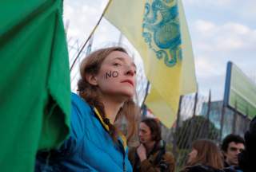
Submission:
[[[98,49],[80,65],[78,94],[72,93],[70,136],[56,150],[38,151],[35,171],[174,172],[175,157],[166,151],[158,120],[138,123],[133,97],[136,65],[121,47]],[[120,123],[126,121],[126,128]],[[138,145],[129,147],[138,134]],[[227,135],[221,148],[214,141],[192,143],[181,172],[253,172],[256,119],[245,140]]]

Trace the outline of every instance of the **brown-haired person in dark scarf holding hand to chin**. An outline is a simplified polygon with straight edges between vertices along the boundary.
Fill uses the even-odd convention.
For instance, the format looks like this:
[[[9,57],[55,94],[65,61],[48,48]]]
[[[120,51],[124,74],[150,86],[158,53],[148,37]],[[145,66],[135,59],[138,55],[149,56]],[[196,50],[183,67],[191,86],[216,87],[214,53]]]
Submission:
[[[156,119],[142,119],[138,137],[140,145],[129,151],[134,172],[174,172],[174,157],[166,151],[166,143],[162,140],[161,127]]]

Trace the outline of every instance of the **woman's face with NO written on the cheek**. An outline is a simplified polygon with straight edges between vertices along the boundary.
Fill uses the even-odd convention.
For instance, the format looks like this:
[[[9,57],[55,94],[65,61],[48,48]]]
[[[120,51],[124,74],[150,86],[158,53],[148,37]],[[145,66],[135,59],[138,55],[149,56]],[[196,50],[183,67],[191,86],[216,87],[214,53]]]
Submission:
[[[128,54],[119,51],[110,53],[102,62],[95,81],[103,96],[132,98],[136,87],[136,66]]]

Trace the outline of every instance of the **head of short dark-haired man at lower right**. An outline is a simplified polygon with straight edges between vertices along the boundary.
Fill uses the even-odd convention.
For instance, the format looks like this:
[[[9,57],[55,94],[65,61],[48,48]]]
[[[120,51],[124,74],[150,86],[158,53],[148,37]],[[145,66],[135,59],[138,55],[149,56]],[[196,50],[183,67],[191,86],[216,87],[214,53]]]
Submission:
[[[245,141],[239,135],[230,134],[222,141],[224,167],[238,168],[238,154],[245,149]]]

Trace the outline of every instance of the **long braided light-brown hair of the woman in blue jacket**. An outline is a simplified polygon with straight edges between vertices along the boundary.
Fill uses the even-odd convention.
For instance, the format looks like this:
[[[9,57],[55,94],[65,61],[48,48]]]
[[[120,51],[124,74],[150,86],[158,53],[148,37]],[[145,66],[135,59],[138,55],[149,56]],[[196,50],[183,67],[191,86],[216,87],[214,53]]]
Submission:
[[[97,86],[90,84],[86,80],[86,76],[88,74],[96,75],[99,72],[99,69],[102,66],[102,62],[105,58],[112,52],[119,51],[122,53],[127,53],[126,49],[122,47],[110,47],[106,49],[98,49],[86,58],[84,58],[80,65],[80,75],[81,79],[78,80],[78,94],[81,96],[88,104],[98,109],[100,115],[102,115],[102,119],[106,122],[106,124],[110,128],[110,135],[114,141],[117,141],[118,132],[120,131],[117,125],[112,125],[109,123],[108,119],[106,119],[106,114],[104,111],[104,105],[100,102],[99,96],[100,90]],[[125,117],[127,122],[127,133],[126,138],[129,143],[130,139],[137,132],[138,126],[136,124],[138,120],[139,109],[138,106],[134,103],[134,100],[130,99],[124,102],[122,108],[119,109],[118,115],[116,116],[115,122],[122,117]]]

